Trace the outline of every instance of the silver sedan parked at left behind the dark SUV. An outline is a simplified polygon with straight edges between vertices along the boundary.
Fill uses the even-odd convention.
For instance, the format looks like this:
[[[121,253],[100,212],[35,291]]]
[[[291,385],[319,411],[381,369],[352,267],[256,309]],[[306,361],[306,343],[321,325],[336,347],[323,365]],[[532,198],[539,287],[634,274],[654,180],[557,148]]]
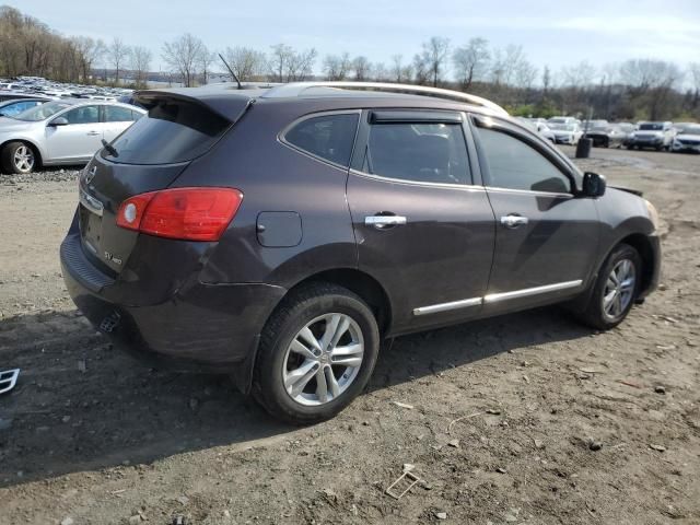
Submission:
[[[145,110],[128,104],[66,100],[0,118],[0,164],[4,173],[38,166],[88,163],[102,140],[112,142]]]

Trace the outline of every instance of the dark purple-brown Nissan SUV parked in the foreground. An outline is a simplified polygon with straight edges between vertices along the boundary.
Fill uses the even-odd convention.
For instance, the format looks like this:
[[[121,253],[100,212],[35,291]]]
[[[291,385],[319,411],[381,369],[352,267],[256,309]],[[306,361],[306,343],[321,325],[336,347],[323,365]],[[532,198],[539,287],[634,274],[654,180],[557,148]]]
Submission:
[[[353,82],[137,98],[148,116],[80,177],[68,291],[117,346],[231,372],[283,420],[338,413],[382,339],[561,302],[607,329],[656,287],[654,207],[483,98]]]

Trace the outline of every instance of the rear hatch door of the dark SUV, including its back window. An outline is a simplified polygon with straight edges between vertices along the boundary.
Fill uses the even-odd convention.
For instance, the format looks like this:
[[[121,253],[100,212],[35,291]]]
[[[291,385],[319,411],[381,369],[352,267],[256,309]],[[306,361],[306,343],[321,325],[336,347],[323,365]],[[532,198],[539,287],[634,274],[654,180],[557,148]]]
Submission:
[[[143,92],[149,109],[101,150],[80,177],[79,221],[85,255],[116,277],[126,267],[139,233],[117,226],[121,202],[167,188],[190,164],[211,149],[236,120],[199,100],[166,92]],[[233,114],[248,100],[237,97]]]

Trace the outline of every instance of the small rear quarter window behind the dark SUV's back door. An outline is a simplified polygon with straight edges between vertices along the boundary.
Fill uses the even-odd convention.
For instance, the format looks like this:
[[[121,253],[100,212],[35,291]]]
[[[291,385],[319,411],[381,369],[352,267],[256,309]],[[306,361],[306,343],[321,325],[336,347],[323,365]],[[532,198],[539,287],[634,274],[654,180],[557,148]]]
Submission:
[[[357,114],[324,115],[302,120],[284,139],[312,155],[348,166],[357,127]]]

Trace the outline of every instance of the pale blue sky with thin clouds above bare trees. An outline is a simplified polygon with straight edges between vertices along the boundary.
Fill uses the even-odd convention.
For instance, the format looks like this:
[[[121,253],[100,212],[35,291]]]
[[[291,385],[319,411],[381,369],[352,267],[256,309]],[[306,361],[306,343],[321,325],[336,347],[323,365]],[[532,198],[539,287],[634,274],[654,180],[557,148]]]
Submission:
[[[0,0],[1,1],[1,0]],[[487,38],[494,47],[522,45],[541,71],[582,60],[602,67],[629,58],[700,61],[700,0],[5,0],[55,31],[106,42],[120,37],[153,51],[189,32],[212,50],[248,46],[268,51],[278,43],[314,47],[320,56],[364,55],[388,67],[406,61],[431,36],[453,47]],[[316,70],[320,69],[320,60]]]

